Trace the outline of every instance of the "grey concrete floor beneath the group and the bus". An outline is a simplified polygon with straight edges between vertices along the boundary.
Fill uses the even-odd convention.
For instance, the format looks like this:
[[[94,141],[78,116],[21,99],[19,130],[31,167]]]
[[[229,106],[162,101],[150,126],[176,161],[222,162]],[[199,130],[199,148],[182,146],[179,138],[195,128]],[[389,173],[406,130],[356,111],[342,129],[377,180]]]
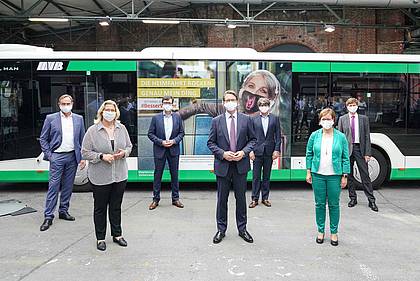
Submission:
[[[56,219],[40,232],[45,187],[0,187],[0,200],[38,210],[0,217],[0,280],[420,280],[418,182],[375,192],[379,213],[362,192],[349,209],[343,192],[338,247],[315,243],[313,195],[302,183],[276,184],[272,208],[248,209],[253,244],[237,235],[231,193],[227,236],[214,245],[216,193],[200,185],[181,189],[184,209],[171,206],[165,190],[154,211],[150,189],[131,185],[122,215],[129,245],[108,236],[106,252],[96,250],[91,193],[73,194],[75,222]]]

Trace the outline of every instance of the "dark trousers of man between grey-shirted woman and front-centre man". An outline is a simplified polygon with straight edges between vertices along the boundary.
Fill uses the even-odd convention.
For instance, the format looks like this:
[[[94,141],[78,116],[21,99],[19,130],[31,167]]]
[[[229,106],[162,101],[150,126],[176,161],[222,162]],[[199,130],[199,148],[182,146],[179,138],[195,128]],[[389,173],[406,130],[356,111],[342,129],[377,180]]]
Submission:
[[[160,201],[160,190],[162,185],[162,175],[165,169],[165,163],[168,161],[169,172],[171,174],[171,189],[172,189],[172,202],[179,199],[179,155],[171,156],[169,149],[165,149],[163,158],[155,157],[155,172],[153,180],[153,201]]]

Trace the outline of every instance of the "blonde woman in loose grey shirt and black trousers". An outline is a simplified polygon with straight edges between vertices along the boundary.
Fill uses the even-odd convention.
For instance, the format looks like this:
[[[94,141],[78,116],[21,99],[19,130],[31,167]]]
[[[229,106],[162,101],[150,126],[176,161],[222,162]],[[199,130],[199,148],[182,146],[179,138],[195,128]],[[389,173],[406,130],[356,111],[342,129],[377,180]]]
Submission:
[[[119,117],[117,104],[106,100],[99,107],[95,124],[87,130],[82,144],[83,159],[89,161],[88,178],[93,186],[96,247],[100,251],[106,250],[108,208],[112,240],[127,247],[121,229],[121,204],[128,178],[126,158],[133,145]]]

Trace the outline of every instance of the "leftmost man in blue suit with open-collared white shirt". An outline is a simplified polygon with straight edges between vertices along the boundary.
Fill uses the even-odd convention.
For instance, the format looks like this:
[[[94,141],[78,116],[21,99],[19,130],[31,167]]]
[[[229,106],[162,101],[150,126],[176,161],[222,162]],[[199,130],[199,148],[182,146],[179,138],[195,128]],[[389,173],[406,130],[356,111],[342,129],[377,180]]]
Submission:
[[[80,163],[81,169],[85,167],[85,161],[81,160],[80,153],[85,134],[83,117],[71,112],[73,98],[70,95],[60,96],[58,106],[59,112],[49,114],[45,118],[39,139],[44,160],[50,162],[45,219],[40,227],[41,231],[47,230],[53,223],[60,191],[58,218],[67,221],[75,220],[69,214],[70,198],[77,165]]]

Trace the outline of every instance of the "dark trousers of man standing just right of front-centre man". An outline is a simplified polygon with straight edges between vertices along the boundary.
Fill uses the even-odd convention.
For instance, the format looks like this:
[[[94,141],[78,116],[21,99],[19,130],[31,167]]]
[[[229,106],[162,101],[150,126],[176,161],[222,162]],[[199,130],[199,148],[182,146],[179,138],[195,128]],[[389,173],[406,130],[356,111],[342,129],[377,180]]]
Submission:
[[[252,169],[252,200],[258,201],[260,192],[262,200],[268,200],[270,193],[270,176],[273,158],[271,155],[255,156]],[[262,180],[261,180],[262,169]]]

